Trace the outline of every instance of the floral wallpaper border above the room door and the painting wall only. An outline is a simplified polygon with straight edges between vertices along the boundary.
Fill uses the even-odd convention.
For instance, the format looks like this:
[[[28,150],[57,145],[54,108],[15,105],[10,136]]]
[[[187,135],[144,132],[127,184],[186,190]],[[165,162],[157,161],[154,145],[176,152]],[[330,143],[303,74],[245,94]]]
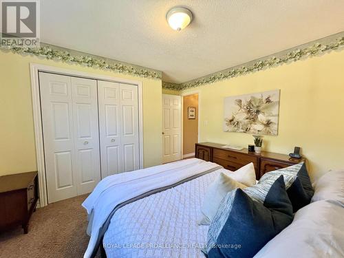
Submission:
[[[247,65],[242,65],[233,67],[230,69],[226,69],[222,72],[216,72],[214,74],[210,74],[208,76],[204,76],[202,78],[198,78],[195,80],[191,80],[186,83],[175,84],[175,83],[167,83],[163,82],[163,87],[165,89],[172,89],[175,91],[180,91],[183,89],[189,89],[193,87],[199,87],[202,85],[206,85],[209,83],[215,83],[219,80],[225,80],[228,78],[233,78],[241,75],[248,74],[250,72],[257,72],[262,69],[276,67],[277,65],[283,65],[285,63],[289,63],[292,61],[298,61],[301,58],[307,58],[310,56],[317,56],[319,54],[323,54],[324,52],[330,52],[332,50],[338,50],[339,48],[344,46],[344,36],[336,39],[327,44],[323,43],[314,43],[309,47],[304,47],[301,49],[296,49],[288,52],[287,54],[283,54],[279,57],[272,56],[270,58],[261,59],[256,61],[255,63],[246,63]],[[277,55],[277,54],[275,54]]]

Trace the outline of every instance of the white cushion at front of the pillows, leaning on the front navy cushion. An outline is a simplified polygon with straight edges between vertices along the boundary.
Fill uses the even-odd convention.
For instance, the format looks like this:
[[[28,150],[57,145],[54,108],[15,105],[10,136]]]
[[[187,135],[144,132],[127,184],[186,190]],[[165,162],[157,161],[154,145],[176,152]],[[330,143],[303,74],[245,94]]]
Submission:
[[[204,195],[204,201],[201,207],[202,218],[199,220],[198,224],[211,224],[211,220],[215,217],[219,204],[221,204],[222,199],[227,193],[237,188],[244,189],[246,187],[246,185],[237,182],[222,172],[217,175],[215,180],[208,186],[206,194]]]

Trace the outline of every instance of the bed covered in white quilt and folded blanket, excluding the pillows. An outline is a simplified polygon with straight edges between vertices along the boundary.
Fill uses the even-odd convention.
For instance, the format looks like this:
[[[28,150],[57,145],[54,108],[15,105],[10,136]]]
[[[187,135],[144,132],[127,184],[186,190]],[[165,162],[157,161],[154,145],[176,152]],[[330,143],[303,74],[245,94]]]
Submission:
[[[204,257],[208,226],[197,221],[219,173],[232,172],[189,159],[105,178],[83,203],[91,236],[84,257],[98,248],[103,257]]]

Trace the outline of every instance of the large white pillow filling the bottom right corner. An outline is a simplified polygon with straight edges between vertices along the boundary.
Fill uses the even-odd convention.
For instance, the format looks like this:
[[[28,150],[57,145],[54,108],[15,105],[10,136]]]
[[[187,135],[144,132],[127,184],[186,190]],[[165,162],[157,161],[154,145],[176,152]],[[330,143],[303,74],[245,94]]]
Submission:
[[[292,224],[271,239],[255,258],[344,257],[344,208],[313,202],[295,213]]]

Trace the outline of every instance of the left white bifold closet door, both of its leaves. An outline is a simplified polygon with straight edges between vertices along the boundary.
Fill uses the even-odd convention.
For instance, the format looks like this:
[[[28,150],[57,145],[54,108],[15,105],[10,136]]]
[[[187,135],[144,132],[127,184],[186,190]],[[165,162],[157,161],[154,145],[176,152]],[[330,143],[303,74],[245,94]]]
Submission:
[[[39,73],[48,202],[100,180],[96,80]]]

